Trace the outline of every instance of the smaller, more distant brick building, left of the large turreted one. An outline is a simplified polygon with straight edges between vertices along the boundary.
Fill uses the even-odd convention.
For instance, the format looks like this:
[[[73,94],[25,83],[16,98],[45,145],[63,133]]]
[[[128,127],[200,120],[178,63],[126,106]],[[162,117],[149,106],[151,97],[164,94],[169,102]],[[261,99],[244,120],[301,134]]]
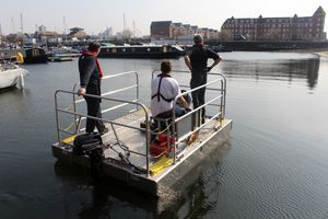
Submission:
[[[218,30],[198,27],[190,24],[173,23],[172,21],[153,21],[150,26],[154,39],[175,39],[180,36],[202,34],[204,38],[215,38]]]

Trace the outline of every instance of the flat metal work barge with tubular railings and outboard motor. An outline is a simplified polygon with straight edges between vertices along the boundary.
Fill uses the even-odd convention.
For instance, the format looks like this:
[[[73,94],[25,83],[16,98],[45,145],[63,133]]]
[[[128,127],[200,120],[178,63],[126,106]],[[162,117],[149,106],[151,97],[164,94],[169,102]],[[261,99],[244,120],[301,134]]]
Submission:
[[[173,71],[190,77],[189,71]],[[154,70],[152,78],[160,73]],[[131,81],[131,84],[120,87],[119,81]],[[57,90],[55,93],[56,122],[58,142],[52,145],[52,154],[59,161],[91,168],[87,154],[73,152],[74,138],[85,132],[86,117],[103,120],[109,131],[102,136],[99,148],[103,149],[102,173],[126,183],[139,191],[160,196],[169,189],[179,178],[192,171],[201,160],[229,140],[232,120],[225,118],[226,79],[222,73],[209,72],[208,83],[190,90],[189,85],[180,83],[186,92],[191,94],[207,88],[207,102],[180,117],[159,119],[151,115],[149,107],[140,100],[139,74],[136,71],[121,72],[103,78],[108,82],[108,92],[102,96],[85,94],[101,99],[103,117],[91,117],[85,113],[85,101],[78,96],[79,83],[71,91]],[[105,82],[105,83],[106,83]],[[150,88],[150,87],[149,87]],[[189,90],[188,90],[189,89]],[[150,91],[149,91],[150,93]],[[130,99],[129,99],[130,97]],[[176,100],[179,96],[176,97]],[[175,100],[175,101],[176,101]],[[69,103],[69,106],[67,106]],[[106,106],[106,107],[104,107]],[[174,106],[175,107],[175,106]],[[207,107],[206,123],[196,129],[191,125],[194,115],[199,115]],[[173,112],[175,108],[173,108]],[[159,124],[152,127],[154,120]],[[199,132],[199,138],[188,142],[190,136]],[[165,136],[164,149],[153,154],[154,137]]]

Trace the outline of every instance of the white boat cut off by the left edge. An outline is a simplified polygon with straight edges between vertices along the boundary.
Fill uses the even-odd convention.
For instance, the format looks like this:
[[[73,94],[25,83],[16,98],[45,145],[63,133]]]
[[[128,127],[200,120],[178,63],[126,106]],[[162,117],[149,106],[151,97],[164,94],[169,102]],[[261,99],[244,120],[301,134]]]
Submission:
[[[13,87],[24,88],[24,77],[28,74],[26,69],[11,62],[0,64],[0,89]]]

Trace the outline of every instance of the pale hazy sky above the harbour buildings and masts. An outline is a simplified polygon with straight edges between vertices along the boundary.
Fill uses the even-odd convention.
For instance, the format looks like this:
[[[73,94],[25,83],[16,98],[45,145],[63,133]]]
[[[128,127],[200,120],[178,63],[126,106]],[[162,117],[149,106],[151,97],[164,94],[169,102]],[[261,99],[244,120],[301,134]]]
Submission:
[[[152,21],[220,31],[231,16],[312,16],[319,5],[327,13],[325,32],[328,32],[328,0],[15,0],[1,5],[0,26],[3,35],[21,32],[22,14],[24,33],[34,33],[39,25],[58,33],[78,26],[87,34],[98,34],[106,27],[116,33],[126,26],[141,36],[150,34]]]

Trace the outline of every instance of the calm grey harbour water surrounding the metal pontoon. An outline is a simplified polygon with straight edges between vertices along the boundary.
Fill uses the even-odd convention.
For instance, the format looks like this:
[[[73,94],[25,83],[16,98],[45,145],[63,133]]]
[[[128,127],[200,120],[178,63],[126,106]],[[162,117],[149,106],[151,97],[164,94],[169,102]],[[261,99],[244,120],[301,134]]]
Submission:
[[[328,59],[221,56],[231,138],[157,199],[57,162],[54,93],[78,81],[77,61],[24,66],[25,90],[0,93],[0,218],[328,218]],[[101,59],[106,74],[138,71],[147,104],[160,62]]]

